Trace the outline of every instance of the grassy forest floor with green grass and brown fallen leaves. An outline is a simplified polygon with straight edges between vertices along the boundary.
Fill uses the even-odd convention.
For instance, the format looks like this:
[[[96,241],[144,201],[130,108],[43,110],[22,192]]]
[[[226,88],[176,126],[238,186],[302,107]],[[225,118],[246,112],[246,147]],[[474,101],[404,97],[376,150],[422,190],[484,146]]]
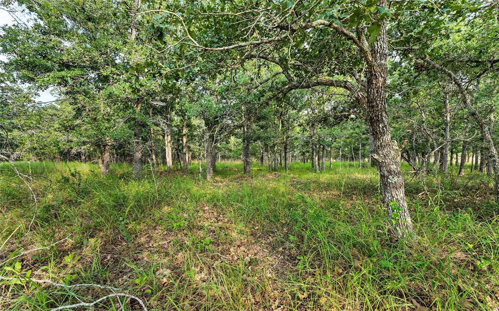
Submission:
[[[253,164],[243,176],[241,163],[222,162],[211,182],[196,164],[187,175],[145,168],[139,181],[124,164],[104,178],[89,163],[17,166],[48,179],[35,177],[35,205],[0,166],[0,310],[117,291],[34,280],[113,286],[148,310],[499,310],[499,209],[480,172],[451,166],[426,186],[406,172],[418,239],[401,243],[387,232],[376,170],[353,163],[322,173]],[[141,310],[116,297],[93,308]]]

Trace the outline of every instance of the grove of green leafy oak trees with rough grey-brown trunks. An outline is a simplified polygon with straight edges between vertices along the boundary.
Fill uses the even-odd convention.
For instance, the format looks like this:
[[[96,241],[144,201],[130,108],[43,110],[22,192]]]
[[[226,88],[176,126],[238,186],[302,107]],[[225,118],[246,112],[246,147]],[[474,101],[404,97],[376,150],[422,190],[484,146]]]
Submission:
[[[465,164],[499,201],[498,6],[432,1],[3,1],[1,154],[188,170],[222,159],[376,166],[413,236],[401,162]],[[56,100],[34,102],[51,89]],[[201,162],[203,165],[201,165]],[[178,163],[178,164],[176,164]],[[204,164],[206,163],[206,165]]]

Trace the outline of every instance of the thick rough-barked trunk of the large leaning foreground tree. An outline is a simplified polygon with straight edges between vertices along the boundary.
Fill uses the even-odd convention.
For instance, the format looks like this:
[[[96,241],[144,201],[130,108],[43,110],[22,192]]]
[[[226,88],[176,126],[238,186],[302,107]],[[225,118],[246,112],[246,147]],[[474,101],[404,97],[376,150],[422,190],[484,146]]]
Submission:
[[[384,7],[386,0],[378,6]],[[367,74],[367,119],[373,136],[374,155],[380,174],[380,188],[388,210],[389,223],[397,238],[412,238],[412,225],[404,189],[404,179],[400,169],[400,150],[397,142],[391,139],[386,112],[385,87],[388,46],[386,39],[386,19],[381,22],[381,32],[371,45]]]

